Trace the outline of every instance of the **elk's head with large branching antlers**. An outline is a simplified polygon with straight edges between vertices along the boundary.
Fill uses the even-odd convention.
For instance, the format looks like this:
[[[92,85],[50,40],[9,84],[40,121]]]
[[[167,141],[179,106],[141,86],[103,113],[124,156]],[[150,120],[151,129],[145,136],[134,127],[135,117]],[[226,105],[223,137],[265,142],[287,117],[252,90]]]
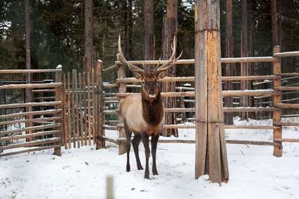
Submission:
[[[132,63],[128,62],[126,58],[123,57],[123,52],[121,51],[121,36],[118,37],[118,54],[117,58],[118,60],[123,64],[127,65],[130,71],[133,72],[133,75],[136,79],[140,79],[142,84],[142,93],[147,96],[147,101],[152,101],[154,98],[156,98],[157,94],[160,94],[160,87],[159,87],[159,79],[162,79],[166,75],[166,70],[171,68],[176,60],[178,60],[180,56],[176,58],[176,37],[173,38],[173,53],[169,60],[166,61],[164,64],[157,64],[156,68],[154,68],[154,72],[147,73],[145,72],[145,64],[142,63],[143,70],[141,68],[138,68],[138,66],[133,65]]]

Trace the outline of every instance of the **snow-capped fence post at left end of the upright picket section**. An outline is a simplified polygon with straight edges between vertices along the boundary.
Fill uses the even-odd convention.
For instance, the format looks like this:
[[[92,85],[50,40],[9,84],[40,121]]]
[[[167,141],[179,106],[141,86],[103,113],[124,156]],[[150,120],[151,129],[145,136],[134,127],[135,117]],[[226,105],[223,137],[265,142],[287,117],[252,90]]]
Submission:
[[[55,74],[55,82],[57,83],[61,83],[62,82],[62,66],[61,65],[58,65],[56,67],[56,69],[59,69],[59,71],[56,71],[56,74]],[[56,105],[55,106],[55,109],[61,109],[61,105],[63,105],[63,101],[62,101],[62,88],[61,86],[59,87],[56,87],[55,89],[55,101],[61,101],[61,104],[60,105]],[[56,113],[55,115],[56,117],[61,117],[61,113]],[[62,122],[62,121],[61,121]],[[63,132],[63,128],[62,128],[62,125],[61,127],[59,127],[59,129],[61,130],[61,133],[59,134],[59,136],[61,137],[61,143],[60,145],[63,146],[63,143],[64,143],[64,132]],[[61,147],[59,146],[59,148],[54,148],[54,154],[55,155],[61,155]]]

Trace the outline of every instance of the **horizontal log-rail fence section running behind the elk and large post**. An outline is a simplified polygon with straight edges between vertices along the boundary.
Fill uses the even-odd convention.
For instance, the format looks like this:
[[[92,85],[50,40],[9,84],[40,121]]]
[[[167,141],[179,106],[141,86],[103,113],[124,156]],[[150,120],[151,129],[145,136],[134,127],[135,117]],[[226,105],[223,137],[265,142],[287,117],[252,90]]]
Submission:
[[[221,58],[221,63],[261,63],[261,62],[269,62],[273,63],[273,73],[269,75],[263,76],[233,76],[233,77],[222,77],[222,81],[233,81],[233,82],[240,82],[243,80],[250,80],[255,82],[264,82],[264,81],[271,81],[273,87],[270,89],[255,89],[255,90],[233,90],[233,91],[222,91],[222,96],[233,96],[233,97],[240,97],[240,96],[250,96],[252,98],[259,98],[259,97],[267,97],[271,98],[271,105],[263,105],[257,103],[257,106],[252,107],[225,107],[224,112],[228,113],[240,113],[240,112],[267,112],[271,113],[273,125],[272,126],[249,126],[249,125],[225,125],[225,129],[271,129],[273,130],[274,139],[273,141],[236,141],[236,140],[227,140],[226,143],[242,143],[242,144],[254,144],[254,145],[265,145],[265,146],[274,146],[274,155],[281,156],[282,155],[282,142],[299,142],[299,139],[283,139],[282,138],[282,127],[283,126],[299,126],[299,122],[281,122],[281,113],[283,109],[290,109],[290,108],[299,108],[299,103],[283,103],[282,102],[282,91],[298,91],[299,86],[282,86],[282,77],[295,77],[298,76],[298,72],[293,73],[282,73],[281,72],[281,58],[288,57],[288,56],[299,56],[299,51],[294,52],[286,52],[280,53],[279,46],[274,48],[273,56],[268,57],[249,57],[249,58]],[[131,63],[135,65],[140,65],[144,63],[147,64],[158,64],[158,60],[142,60],[142,61],[131,61]],[[160,63],[163,64],[165,61],[161,60]],[[194,64],[195,60],[177,60],[176,64]],[[135,79],[134,77],[126,77],[125,70],[122,65],[118,61],[116,61],[115,65],[106,68],[103,72],[109,72],[110,70],[118,70],[118,79],[116,79],[116,83],[114,84],[106,84],[104,85],[104,89],[111,89],[117,88],[118,93],[114,96],[110,92],[110,96],[106,96],[104,100],[106,101],[106,106],[104,110],[104,115],[114,115],[118,112],[116,110],[109,110],[110,105],[109,103],[115,103],[118,100],[119,103],[129,95],[135,95],[136,93],[128,93],[128,87],[138,87],[139,80]],[[164,77],[161,79],[161,82],[189,82],[193,83],[195,81],[195,77]],[[164,97],[176,97],[176,98],[183,98],[183,97],[192,97],[194,98],[195,92],[194,91],[177,91],[173,93],[161,93]],[[114,106],[112,106],[114,107]],[[166,112],[176,112],[176,113],[192,113],[195,112],[195,108],[182,108],[182,107],[173,107],[173,108],[166,108]],[[106,119],[108,120],[108,119]],[[118,139],[109,139],[105,137],[106,141],[110,141],[113,143],[117,143],[120,146],[119,153],[124,153],[125,150],[122,146],[124,139],[123,133],[123,122],[121,117],[118,120],[109,121],[106,125],[104,125],[104,129],[112,129],[118,130],[119,136]],[[116,123],[116,124],[115,124]],[[112,125],[111,125],[112,124]],[[164,125],[164,128],[195,128],[195,126],[182,126],[182,125]],[[160,140],[162,142],[162,140]],[[165,141],[163,141],[165,142]],[[175,143],[195,143],[195,141],[183,141],[180,139],[166,141],[166,142],[175,142]]]

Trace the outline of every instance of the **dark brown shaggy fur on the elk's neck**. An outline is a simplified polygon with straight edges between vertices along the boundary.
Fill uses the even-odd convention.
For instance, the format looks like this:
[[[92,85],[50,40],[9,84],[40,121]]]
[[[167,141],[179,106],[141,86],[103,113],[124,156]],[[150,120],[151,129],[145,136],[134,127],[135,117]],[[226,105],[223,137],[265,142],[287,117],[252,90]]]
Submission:
[[[161,122],[164,115],[164,106],[161,98],[161,92],[159,92],[154,99],[148,98],[142,91],[142,116],[147,124],[157,125]],[[149,101],[150,100],[150,101]]]

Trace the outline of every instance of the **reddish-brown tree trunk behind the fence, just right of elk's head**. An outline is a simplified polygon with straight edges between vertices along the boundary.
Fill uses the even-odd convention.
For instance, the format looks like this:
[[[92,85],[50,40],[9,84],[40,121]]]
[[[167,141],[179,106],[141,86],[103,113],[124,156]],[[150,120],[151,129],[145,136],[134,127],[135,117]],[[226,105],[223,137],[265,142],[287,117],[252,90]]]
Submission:
[[[176,36],[178,32],[178,1],[168,0],[166,8],[166,19],[164,19],[164,28],[163,28],[163,54],[162,58],[168,60],[171,57],[172,49],[171,45],[173,44],[173,37]],[[175,77],[176,76],[176,65],[169,68],[166,71],[166,76]],[[164,92],[175,92],[176,91],[176,82],[164,82],[162,86],[162,91]],[[164,98],[165,108],[176,108],[176,98],[166,97]],[[165,123],[166,124],[176,124],[176,113],[166,113],[165,114]],[[162,131],[163,136],[178,136],[178,129],[165,129]]]

